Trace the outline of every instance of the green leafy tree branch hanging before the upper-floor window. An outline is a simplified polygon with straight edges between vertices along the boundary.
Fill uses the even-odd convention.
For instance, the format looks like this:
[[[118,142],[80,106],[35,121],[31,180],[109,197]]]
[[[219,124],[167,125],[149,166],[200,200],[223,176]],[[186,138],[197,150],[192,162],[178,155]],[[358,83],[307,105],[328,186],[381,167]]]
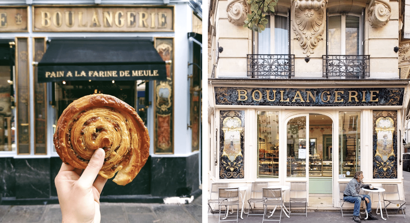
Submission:
[[[244,27],[257,32],[265,30],[268,19],[264,13],[274,12],[277,3],[278,0],[248,0],[252,13],[246,15]]]

